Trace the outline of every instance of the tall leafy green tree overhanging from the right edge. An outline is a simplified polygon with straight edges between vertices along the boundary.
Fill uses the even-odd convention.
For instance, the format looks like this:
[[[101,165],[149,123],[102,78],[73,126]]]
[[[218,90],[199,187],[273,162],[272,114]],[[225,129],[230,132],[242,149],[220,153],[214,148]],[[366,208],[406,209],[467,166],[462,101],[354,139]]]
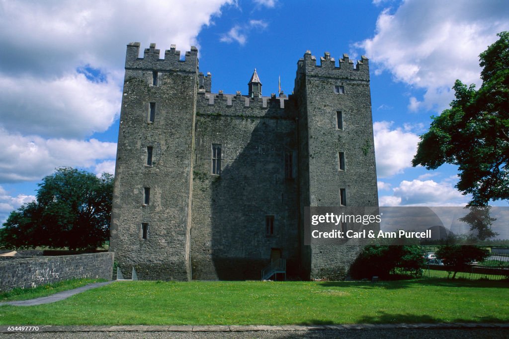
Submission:
[[[456,99],[420,136],[413,166],[454,164],[456,187],[471,206],[509,199],[509,32],[479,55],[483,84],[475,90],[456,80]]]

